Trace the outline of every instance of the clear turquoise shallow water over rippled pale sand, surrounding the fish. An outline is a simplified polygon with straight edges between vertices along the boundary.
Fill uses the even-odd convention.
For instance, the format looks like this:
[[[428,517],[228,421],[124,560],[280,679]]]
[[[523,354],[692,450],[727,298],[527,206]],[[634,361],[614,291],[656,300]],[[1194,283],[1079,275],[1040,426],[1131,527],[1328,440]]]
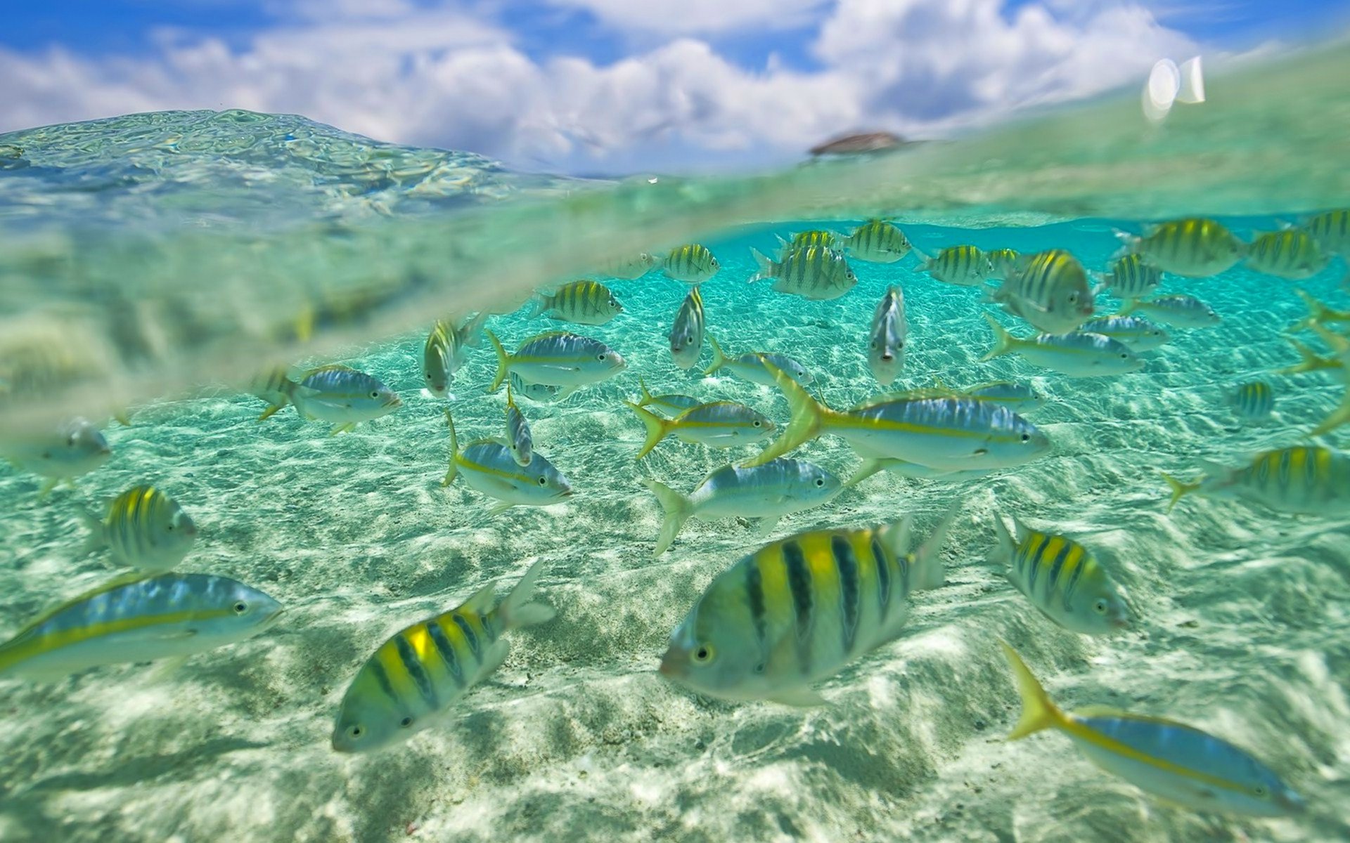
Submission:
[[[1208,121],[1207,115],[1227,113],[1219,90],[1222,82],[1212,86],[1214,101],[1204,109],[1174,116]],[[1316,92],[1300,90],[1310,104]],[[1210,105],[1212,112],[1206,111]],[[1092,108],[1115,115],[1119,124],[1103,124]],[[1278,109],[1285,104],[1268,93],[1245,108],[1273,115],[1282,113]],[[1126,132],[1125,115],[1125,104],[1106,103],[1049,119],[1096,120],[1098,132],[1110,136]],[[1324,113],[1319,131],[1335,125],[1338,115],[1345,117]],[[178,115],[107,123],[92,135],[89,127],[49,132],[92,144],[78,173],[61,177],[80,181],[88,170],[116,171],[127,165],[131,147],[109,139],[124,138],[131,127],[158,125],[158,138],[184,134],[202,121],[228,135],[273,139],[294,135],[300,125],[293,119],[250,119],[225,123],[225,131],[208,117]],[[320,146],[347,150],[328,158],[370,159],[369,151],[344,146],[360,147],[360,139],[309,125],[327,139]],[[1199,147],[1187,150],[1177,136],[1189,138],[1184,132],[1191,129],[1197,138],[1215,125],[1223,123],[1169,124],[1173,135],[1165,140],[1170,143],[1139,147],[1143,152],[1138,144],[1125,144],[1114,155],[1108,148],[1092,159],[1094,171],[1123,166],[1122,150],[1137,156],[1149,150],[1173,155],[1180,147],[1195,161]],[[1138,135],[1137,128],[1131,131]],[[63,143],[43,151],[30,138],[0,136],[0,143],[24,147],[31,161],[24,170],[42,166],[43,155],[73,155]],[[1062,139],[1062,134],[1049,138]],[[1242,139],[1260,155],[1272,148],[1261,146],[1260,136]],[[1311,144],[1311,136],[1305,140]],[[119,187],[89,193],[97,197],[89,200],[97,213],[88,251],[84,235],[74,233],[86,229],[70,224],[73,216],[66,214],[74,214],[76,206],[54,189],[55,175],[14,182],[9,177],[23,170],[0,173],[0,192],[8,192],[0,193],[8,197],[0,217],[4,236],[30,250],[11,250],[3,259],[7,291],[15,293],[5,303],[7,326],[31,326],[35,314],[61,312],[54,302],[69,308],[115,275],[124,294],[119,301],[131,302],[122,313],[142,314],[138,324],[144,341],[113,339],[108,357],[76,355],[74,368],[81,376],[88,364],[116,368],[127,348],[139,347],[130,371],[159,378],[163,391],[171,391],[170,383],[194,383],[188,378],[194,364],[209,360],[212,374],[220,375],[232,363],[231,374],[238,378],[247,375],[239,367],[258,356],[255,349],[254,356],[217,359],[224,351],[259,344],[267,353],[296,349],[297,337],[285,332],[294,306],[328,295],[328,286],[315,286],[320,281],[350,283],[379,293],[369,303],[370,316],[320,320],[317,336],[304,348],[343,347],[342,353],[312,359],[340,360],[379,376],[398,390],[405,406],[352,434],[328,437],[325,425],[302,422],[290,409],[258,424],[261,402],[215,390],[148,403],[135,411],[130,428],[111,425],[113,459],[84,477],[76,491],[58,490],[39,502],[30,475],[0,469],[0,593],[7,595],[0,602],[0,630],[5,633],[111,576],[105,556],[78,556],[84,529],[77,514],[81,507],[99,508],[140,482],[173,494],[201,529],[182,571],[232,576],[289,607],[274,630],[193,658],[167,677],[146,666],[113,666],[54,684],[0,685],[9,726],[0,734],[0,838],[381,840],[408,839],[409,824],[416,825],[413,839],[470,840],[1083,840],[1098,835],[1326,840],[1350,834],[1336,808],[1350,796],[1347,519],[1293,518],[1200,499],[1187,499],[1165,515],[1166,491],[1158,476],[1160,471],[1185,473],[1196,457],[1238,464],[1257,450],[1293,444],[1335,406],[1343,387],[1326,374],[1269,375],[1297,360],[1281,333],[1303,316],[1288,282],[1242,267],[1211,279],[1170,279],[1168,291],[1206,299],[1223,316],[1222,325],[1173,330],[1173,341],[1148,353],[1141,372],[1065,379],[1013,357],[980,363],[992,337],[976,293],[915,274],[913,258],[898,266],[855,262],[860,283],[834,302],[806,302],[775,294],[767,285],[745,285],[753,271],[752,245],[765,251],[775,233],[814,225],[788,209],[878,202],[871,193],[853,189],[856,182],[845,175],[850,167],[834,175],[809,169],[742,182],[734,192],[720,183],[666,185],[663,179],[616,194],[595,185],[498,174],[470,158],[408,151],[412,159],[441,162],[428,173],[463,166],[466,183],[487,185],[483,196],[466,190],[473,200],[454,198],[455,190],[446,200],[471,201],[486,213],[459,210],[447,217],[451,212],[435,202],[405,201],[405,194],[424,183],[417,178],[394,179],[375,190],[387,194],[389,208],[358,202],[362,206],[351,210],[342,197],[360,194],[356,185],[369,179],[354,173],[366,174],[364,166],[325,183],[306,179],[304,166],[292,161],[298,169],[281,169],[289,173],[285,186],[269,182],[263,194],[288,197],[292,204],[281,204],[286,212],[270,217],[258,210],[267,202],[256,194],[275,147],[262,140],[243,143],[273,150],[259,151],[250,165],[228,146],[208,146],[202,158],[189,159],[198,162],[190,167],[194,175],[181,182],[173,173],[185,162],[177,158],[144,165],[147,173],[134,178],[150,193],[140,204],[135,192]],[[1091,181],[1075,179],[1056,181],[1037,193],[1031,185],[1041,182],[1034,174],[1045,170],[1030,155],[1008,154],[1013,163],[1003,170],[988,165],[995,175],[984,177],[988,196],[995,197],[990,205],[1002,202],[1002,209],[979,204],[944,209],[934,202],[940,185],[959,190],[953,165],[945,182],[933,178],[914,189],[929,193],[915,196],[913,216],[940,225],[907,221],[905,228],[925,251],[957,243],[1022,251],[1058,245],[1100,267],[1115,250],[1110,228],[1133,227],[1127,219],[1148,216],[1130,213],[1134,209],[1212,212],[1222,204],[1231,212],[1285,216],[1346,204],[1350,190],[1320,170],[1310,148],[1264,158],[1270,169],[1260,175],[1249,170],[1250,178],[1238,179],[1238,173],[1222,167],[1251,151],[1237,142],[1210,147],[1210,166],[1193,174],[1185,170],[1185,178],[1228,187],[1218,198],[1196,192],[1195,181],[1188,197],[1177,196],[1177,174],[1172,182],[1114,182],[1120,192],[1114,196]],[[963,152],[961,144],[929,154],[937,156],[929,163],[963,154],[969,155],[967,161],[979,159],[969,146]],[[911,166],[905,161],[873,162],[871,171]],[[327,173],[327,158],[313,166]],[[1299,178],[1262,181],[1272,170]],[[247,190],[221,189],[215,205],[204,204],[217,185],[231,183],[227,173],[238,171],[250,173],[239,182]],[[440,183],[439,177],[425,179]],[[1034,200],[1006,200],[1006,185],[1017,179],[1021,196]],[[826,183],[841,193],[824,193]],[[169,197],[176,193],[189,194],[197,210],[174,213]],[[531,202],[498,201],[517,194]],[[49,210],[34,210],[43,196]],[[549,201],[549,196],[562,198]],[[718,204],[717,197],[740,204]],[[783,200],[775,213],[749,216],[774,200]],[[666,216],[674,221],[657,220],[663,202],[670,202]],[[1069,213],[1071,202],[1081,204],[1088,219]],[[202,216],[207,212],[209,220]],[[709,233],[718,225],[682,228],[694,217],[714,216],[718,225],[776,221],[724,233]],[[282,217],[292,217],[290,225]],[[313,219],[320,219],[319,228]],[[580,225],[598,219],[612,225]],[[1045,224],[998,227],[1010,221]],[[1246,239],[1274,220],[1226,221]],[[336,235],[335,225],[340,228]],[[848,231],[850,223],[829,225]],[[782,537],[817,526],[863,526],[910,511],[926,526],[954,498],[965,502],[944,553],[948,585],[915,598],[900,641],[824,685],[829,707],[799,711],[716,703],[655,673],[670,630],[697,595],[763,540],[734,522],[694,521],[671,553],[653,561],[649,552],[660,513],[639,477],[653,476],[688,491],[722,456],[740,459],[755,450],[717,453],[667,441],[634,465],[641,425],[621,401],[637,395],[641,376],[657,393],[744,401],[786,422],[786,403],[775,390],[733,378],[701,379],[670,361],[666,333],[684,285],[656,274],[613,282],[625,313],[608,325],[578,330],[621,351],[629,370],[563,403],[522,402],[536,448],[578,488],[570,503],[489,517],[486,498],[462,484],[439,486],[447,437],[443,402],[420,394],[424,297],[444,297],[451,287],[467,286],[466,295],[482,295],[486,286],[531,286],[566,271],[562,267],[570,262],[594,262],[614,243],[632,247],[634,240],[624,237],[632,237],[633,227],[648,227],[652,239],[637,241],[644,244],[698,232],[724,267],[703,285],[709,330],[732,353],[792,353],[815,374],[811,391],[830,406],[848,406],[876,391],[865,364],[865,328],[891,283],[905,287],[910,322],[907,363],[898,386],[926,386],[934,375],[954,386],[1014,378],[1033,382],[1050,398],[1045,409],[1029,415],[1054,444],[1042,460],[968,483],[880,475],[826,507],[786,518],[775,530],[774,537]],[[555,245],[567,232],[579,240],[521,255],[500,237],[544,231],[559,237],[548,241]],[[652,233],[657,231],[659,237]],[[119,237],[136,248],[119,247]],[[375,248],[377,241],[383,251]],[[432,258],[450,254],[446,241],[467,250],[455,252],[466,262],[455,266],[501,262],[508,268],[501,278],[432,272]],[[155,247],[146,252],[146,243]],[[535,248],[543,248],[541,243],[529,240]],[[408,245],[431,251],[409,255]],[[55,263],[53,252],[62,256]],[[116,260],[96,260],[109,255]],[[378,283],[371,283],[381,255],[397,271],[377,274]],[[131,266],[144,274],[123,275]],[[213,275],[221,266],[234,266],[238,275]],[[266,271],[250,286],[244,270],[262,266]],[[418,266],[425,274],[417,277],[424,281],[409,286],[406,279],[416,275],[409,267]],[[286,285],[277,282],[284,270],[293,270]],[[1301,286],[1345,309],[1350,299],[1338,287],[1345,271],[1338,259]],[[177,285],[167,283],[170,277]],[[34,283],[40,279],[47,279],[46,287]],[[242,314],[208,306],[239,301],[270,303]],[[205,322],[211,330],[198,328],[192,335],[197,341],[169,335],[158,347],[150,326],[184,320],[182,309],[166,302],[185,302],[182,308],[212,316]],[[107,302],[90,312],[101,316],[103,308]],[[1110,299],[1100,298],[1099,309],[1108,310]],[[396,339],[378,336],[401,320],[417,329]],[[228,330],[240,324],[255,325],[258,333],[236,337]],[[509,347],[552,325],[525,320],[522,313],[490,322]],[[7,332],[5,340],[14,336]],[[9,364],[16,359],[14,352],[0,356]],[[452,387],[462,440],[501,429],[504,397],[483,395],[493,370],[491,352],[477,349]],[[53,402],[74,395],[47,391],[55,380],[23,379],[14,371],[8,378],[20,388],[11,391],[4,406],[12,418],[32,403],[22,398],[26,394],[40,393]],[[1258,375],[1269,376],[1276,387],[1276,419],[1239,424],[1226,395],[1237,382]],[[196,382],[202,379],[198,372]],[[136,394],[136,388],[128,391]],[[1343,446],[1345,437],[1332,434],[1326,442]],[[846,445],[832,437],[799,453],[841,475],[857,464]],[[1006,584],[999,566],[986,561],[995,508],[1087,544],[1129,589],[1142,615],[1139,629],[1088,639],[1045,620]],[[378,643],[418,618],[459,604],[493,579],[514,580],[535,557],[548,561],[540,596],[559,616],[514,637],[510,658],[462,701],[455,723],[374,757],[340,757],[329,749],[338,703]],[[1017,697],[998,651],[999,637],[1027,657],[1065,708],[1114,704],[1207,728],[1258,754],[1310,800],[1312,811],[1297,820],[1197,817],[1160,808],[1099,773],[1062,736],[1003,743]]]

